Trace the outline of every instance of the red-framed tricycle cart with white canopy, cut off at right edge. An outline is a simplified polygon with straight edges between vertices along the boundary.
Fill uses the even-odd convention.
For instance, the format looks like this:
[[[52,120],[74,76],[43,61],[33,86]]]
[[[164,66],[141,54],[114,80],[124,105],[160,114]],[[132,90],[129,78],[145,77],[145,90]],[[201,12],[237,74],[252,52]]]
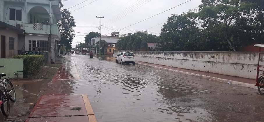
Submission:
[[[259,66],[259,61],[260,61],[260,53],[261,53],[261,47],[264,47],[264,44],[257,44],[254,45],[254,47],[259,47],[259,52],[258,52],[258,67],[257,67],[257,77],[256,77],[256,85],[258,86],[258,92],[261,95],[264,95],[264,66]],[[260,68],[262,68],[260,70]],[[260,73],[261,71],[261,73]],[[260,77],[259,77],[260,76]]]

